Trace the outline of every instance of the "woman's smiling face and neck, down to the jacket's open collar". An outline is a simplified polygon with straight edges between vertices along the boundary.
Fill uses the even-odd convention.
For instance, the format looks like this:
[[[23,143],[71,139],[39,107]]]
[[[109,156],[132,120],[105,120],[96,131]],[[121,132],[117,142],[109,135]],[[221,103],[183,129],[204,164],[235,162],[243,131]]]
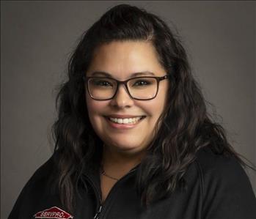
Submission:
[[[145,40],[101,45],[95,50],[86,75],[90,77],[95,71],[107,71],[109,78],[98,76],[93,79],[104,79],[104,88],[102,83],[97,87],[87,83],[89,120],[104,142],[104,171],[120,179],[140,163],[155,136],[156,123],[164,111],[168,90],[168,81],[162,80],[158,89],[157,79],[167,79],[164,78],[167,73],[158,62],[153,45]],[[144,77],[133,78],[136,75]],[[157,78],[148,78],[149,75]],[[126,86],[117,86],[113,78],[128,81]],[[102,175],[100,182],[101,200],[104,201],[115,181]]]

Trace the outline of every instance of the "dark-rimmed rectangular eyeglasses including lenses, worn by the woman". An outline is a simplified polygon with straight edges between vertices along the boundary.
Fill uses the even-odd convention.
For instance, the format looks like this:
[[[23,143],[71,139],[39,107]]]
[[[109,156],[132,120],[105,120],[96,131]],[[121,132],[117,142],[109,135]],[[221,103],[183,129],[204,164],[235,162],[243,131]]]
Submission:
[[[152,100],[158,94],[159,82],[167,79],[162,77],[136,77],[126,81],[118,81],[107,77],[83,77],[87,84],[87,91],[94,100],[111,100],[117,94],[120,84],[125,85],[129,96],[135,100]]]

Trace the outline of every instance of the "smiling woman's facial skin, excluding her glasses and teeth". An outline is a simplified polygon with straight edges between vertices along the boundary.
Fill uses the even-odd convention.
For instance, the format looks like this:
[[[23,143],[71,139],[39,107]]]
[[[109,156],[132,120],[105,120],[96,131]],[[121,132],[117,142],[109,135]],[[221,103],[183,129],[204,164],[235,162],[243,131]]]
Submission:
[[[164,68],[158,62],[155,48],[146,41],[110,42],[96,48],[87,77],[106,77],[104,72],[120,81],[136,76],[164,76]],[[153,75],[152,75],[153,74]],[[168,80],[159,82],[156,98],[134,100],[119,86],[111,100],[93,100],[86,92],[89,120],[95,133],[109,149],[128,154],[143,152],[153,139],[153,130],[164,111],[167,99]],[[119,118],[140,118],[134,124],[120,124]],[[116,118],[115,122],[110,118]],[[130,119],[130,122],[131,122]],[[133,119],[134,120],[134,119]],[[122,120],[120,120],[122,122]],[[135,119],[136,121],[136,119]]]

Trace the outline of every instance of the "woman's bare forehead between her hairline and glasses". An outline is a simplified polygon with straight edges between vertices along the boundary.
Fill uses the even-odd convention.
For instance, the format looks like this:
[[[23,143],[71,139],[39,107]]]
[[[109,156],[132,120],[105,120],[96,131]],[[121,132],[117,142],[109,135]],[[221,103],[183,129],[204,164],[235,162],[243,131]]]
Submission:
[[[95,71],[115,78],[128,78],[133,73],[151,72],[163,75],[156,49],[150,41],[114,41],[95,49],[87,76]]]

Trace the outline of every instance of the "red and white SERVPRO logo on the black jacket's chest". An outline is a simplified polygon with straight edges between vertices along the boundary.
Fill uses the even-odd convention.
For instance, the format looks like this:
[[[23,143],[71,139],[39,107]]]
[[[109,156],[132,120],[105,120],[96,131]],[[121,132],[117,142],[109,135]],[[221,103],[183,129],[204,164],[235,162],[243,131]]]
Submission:
[[[73,216],[63,211],[59,207],[51,207],[49,209],[43,210],[42,212],[37,212],[34,215],[34,218],[70,219],[73,218]]]

